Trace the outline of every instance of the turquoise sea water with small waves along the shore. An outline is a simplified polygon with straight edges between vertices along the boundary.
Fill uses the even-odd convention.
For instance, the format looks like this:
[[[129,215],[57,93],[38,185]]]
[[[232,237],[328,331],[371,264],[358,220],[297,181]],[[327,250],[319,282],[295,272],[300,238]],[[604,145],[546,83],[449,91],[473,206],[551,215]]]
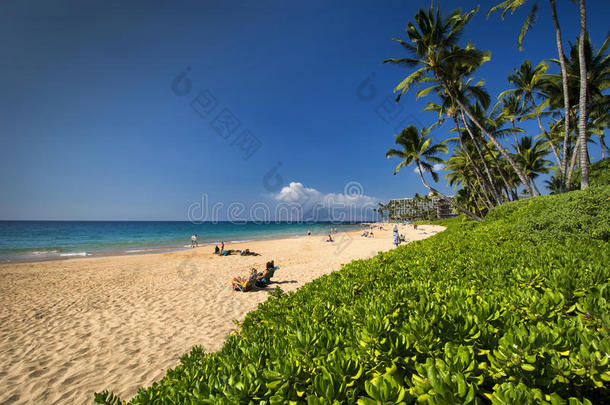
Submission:
[[[134,254],[199,244],[328,233],[353,229],[357,224],[202,223],[179,221],[0,221],[0,262],[51,260],[107,254]]]

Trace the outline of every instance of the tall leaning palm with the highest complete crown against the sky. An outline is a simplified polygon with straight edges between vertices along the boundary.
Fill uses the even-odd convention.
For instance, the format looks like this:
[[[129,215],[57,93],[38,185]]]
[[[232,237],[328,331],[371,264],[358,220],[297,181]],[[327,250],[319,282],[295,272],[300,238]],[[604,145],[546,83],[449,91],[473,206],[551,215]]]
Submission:
[[[414,57],[391,58],[384,60],[384,63],[418,67],[396,86],[394,91],[399,93],[397,99],[400,99],[400,96],[416,83],[436,83],[437,89],[450,97],[502,153],[530,195],[533,195],[534,191],[529,185],[527,177],[521,172],[508,151],[477,121],[469,107],[466,106],[467,101],[460,92],[459,83],[489,60],[490,57],[489,52],[481,52],[470,44],[465,48],[457,46],[460,33],[477,10],[478,8],[475,8],[466,14],[462,14],[461,10],[458,9],[447,18],[443,18],[438,7],[435,10],[434,6],[430,6],[428,12],[419,9],[415,15],[417,26],[411,22],[407,24],[406,33],[410,43],[394,38]]]

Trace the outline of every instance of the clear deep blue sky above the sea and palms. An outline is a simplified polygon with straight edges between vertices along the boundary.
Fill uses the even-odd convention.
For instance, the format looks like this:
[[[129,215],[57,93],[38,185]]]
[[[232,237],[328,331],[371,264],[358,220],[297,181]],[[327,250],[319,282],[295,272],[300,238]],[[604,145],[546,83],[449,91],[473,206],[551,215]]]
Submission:
[[[411,168],[393,176],[396,161],[384,155],[401,121],[433,122],[421,112],[427,100],[403,97],[390,122],[378,112],[408,73],[381,65],[402,55],[391,38],[404,37],[416,9],[428,5],[4,1],[0,219],[183,220],[202,194],[225,204],[273,200],[277,179],[322,195],[349,182],[384,200],[425,193]],[[599,47],[610,4],[587,6]],[[501,21],[486,20],[488,8],[463,38],[492,52],[476,77],[495,97],[513,67],[557,52],[545,2],[524,51],[516,38],[527,10]],[[560,2],[559,18],[566,45],[574,42],[577,7]],[[172,82],[187,68],[190,92],[177,95]],[[367,78],[375,94],[362,93]],[[214,100],[207,116],[191,106],[200,92]],[[239,121],[228,139],[213,128],[225,109]],[[535,135],[531,124],[524,128]],[[248,159],[236,142],[244,130],[260,142]],[[597,146],[590,152],[599,159]],[[444,181],[439,188],[450,191]]]

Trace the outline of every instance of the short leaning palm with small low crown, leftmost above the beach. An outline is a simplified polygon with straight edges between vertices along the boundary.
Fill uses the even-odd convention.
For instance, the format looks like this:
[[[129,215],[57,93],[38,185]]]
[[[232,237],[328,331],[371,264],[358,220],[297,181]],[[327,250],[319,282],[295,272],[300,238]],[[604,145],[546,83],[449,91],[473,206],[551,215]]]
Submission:
[[[479,216],[463,208],[457,204],[453,198],[446,196],[426,182],[424,171],[430,173],[434,181],[438,181],[438,174],[434,170],[433,164],[443,163],[444,160],[437,155],[439,153],[447,153],[448,151],[447,146],[444,144],[433,144],[432,138],[428,137],[429,133],[430,128],[424,127],[420,131],[416,126],[411,125],[403,129],[400,134],[394,135],[396,138],[394,142],[397,146],[400,146],[400,149],[390,148],[386,152],[386,158],[397,157],[401,159],[400,163],[394,169],[394,175],[396,175],[402,167],[410,166],[412,163],[415,163],[424,187],[433,193],[441,195],[459,211],[470,216],[472,219],[480,221],[481,218]]]

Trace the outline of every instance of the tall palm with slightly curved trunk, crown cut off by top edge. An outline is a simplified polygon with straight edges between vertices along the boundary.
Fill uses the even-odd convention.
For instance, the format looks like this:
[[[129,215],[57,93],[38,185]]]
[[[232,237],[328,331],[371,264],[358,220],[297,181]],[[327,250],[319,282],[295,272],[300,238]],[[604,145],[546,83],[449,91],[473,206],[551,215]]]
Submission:
[[[527,0],[506,0],[503,1],[494,7],[492,7],[487,13],[487,17],[491,13],[496,10],[502,10],[502,19],[508,11],[514,13],[519,7],[523,6],[527,3]],[[559,56],[559,64],[561,67],[561,78],[562,78],[562,89],[563,89],[563,105],[564,105],[564,137],[563,137],[563,160],[561,164],[561,182],[562,184],[565,182],[565,176],[567,171],[568,164],[568,148],[570,141],[570,118],[568,114],[568,109],[570,106],[570,97],[568,93],[568,73],[566,69],[566,58],[563,52],[563,41],[561,39],[561,27],[559,26],[559,19],[557,18],[557,7],[555,6],[555,0],[549,0],[549,4],[551,5],[551,15],[553,17],[553,24],[555,25],[555,42],[557,45],[557,54]],[[521,32],[519,33],[519,40],[517,41],[517,47],[522,49],[521,44],[523,43],[523,38],[527,31],[529,31],[538,15],[538,2],[536,1],[531,8],[530,12],[525,19],[523,26],[521,27]],[[562,186],[563,187],[563,186]]]

